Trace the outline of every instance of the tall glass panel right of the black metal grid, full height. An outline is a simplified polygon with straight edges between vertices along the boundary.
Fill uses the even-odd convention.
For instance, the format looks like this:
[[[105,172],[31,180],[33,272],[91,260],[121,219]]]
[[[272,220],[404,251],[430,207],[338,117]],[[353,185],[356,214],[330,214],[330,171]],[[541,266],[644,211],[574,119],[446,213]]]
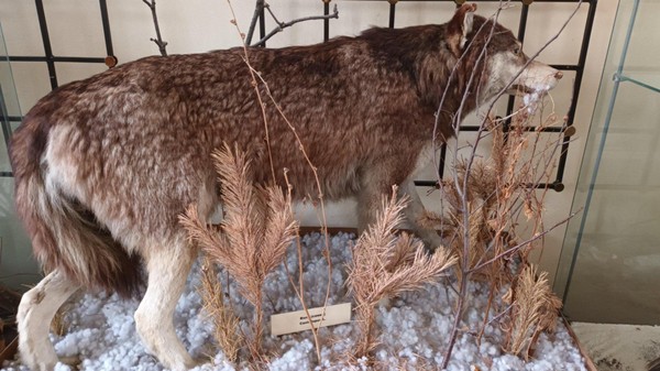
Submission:
[[[556,281],[573,320],[660,324],[659,11],[619,4]]]

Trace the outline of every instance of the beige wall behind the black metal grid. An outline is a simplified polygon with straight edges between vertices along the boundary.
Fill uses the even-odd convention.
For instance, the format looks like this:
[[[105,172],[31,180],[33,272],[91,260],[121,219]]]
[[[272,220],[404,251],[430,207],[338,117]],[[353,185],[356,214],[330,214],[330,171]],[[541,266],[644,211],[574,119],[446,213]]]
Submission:
[[[103,36],[100,26],[98,1],[92,0],[45,0],[51,40],[55,55],[105,56]],[[234,1],[237,18],[243,31],[252,13],[253,1]],[[596,24],[590,46],[583,89],[578,106],[575,127],[578,135],[571,144],[569,163],[564,175],[566,190],[551,192],[547,204],[547,225],[566,217],[570,210],[573,188],[583,151],[591,114],[598,88],[602,65],[606,53],[609,32],[617,1],[598,2]],[[389,4],[386,1],[337,1],[340,19],[332,20],[331,35],[355,34],[370,25],[387,25]],[[519,7],[519,2],[513,3]],[[479,12],[488,15],[495,3],[479,3]],[[157,54],[156,45],[150,41],[154,35],[151,13],[140,0],[108,1],[111,21],[114,54],[120,62],[128,62],[145,55]],[[228,2],[223,0],[158,0],[158,17],[163,37],[169,43],[167,50],[174,53],[204,52],[240,44],[235,28],[230,23]],[[280,20],[320,14],[321,1],[287,0],[272,2]],[[536,52],[546,40],[554,34],[574,9],[574,4],[542,3],[531,6],[528,35],[525,50]],[[583,24],[587,6],[579,10],[578,17],[566,31],[541,54],[548,63],[573,64],[578,62]],[[397,7],[397,26],[440,23],[447,21],[453,12],[452,3],[442,2],[400,2]],[[517,28],[519,11],[505,12],[501,21]],[[43,45],[35,17],[34,2],[28,0],[0,0],[0,22],[4,29],[8,51],[11,55],[43,55]],[[271,29],[273,22],[270,22]],[[322,41],[320,22],[309,22],[287,29],[270,42],[270,46],[307,44]],[[47,70],[43,63],[14,63],[12,65],[16,89],[23,112],[50,91]],[[103,70],[102,65],[57,64],[59,83],[89,76]],[[557,112],[561,116],[568,110],[571,98],[572,74],[566,74],[563,85],[553,92]],[[420,189],[426,193],[426,189]],[[437,196],[426,197],[429,208],[437,208]],[[352,226],[355,223],[353,203],[331,205],[329,208],[331,226]],[[300,217],[305,223],[315,225],[314,209],[301,208]],[[564,229],[559,228],[547,238],[546,249],[540,260],[541,266],[554,273],[561,251]]]

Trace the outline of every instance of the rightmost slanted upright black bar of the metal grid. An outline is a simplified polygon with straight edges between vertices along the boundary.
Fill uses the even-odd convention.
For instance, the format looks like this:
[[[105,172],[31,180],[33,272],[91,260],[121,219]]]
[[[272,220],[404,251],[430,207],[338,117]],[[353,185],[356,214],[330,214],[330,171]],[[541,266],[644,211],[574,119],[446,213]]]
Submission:
[[[591,41],[591,33],[593,30],[594,18],[596,17],[597,0],[593,0],[588,7],[588,13],[586,14],[586,26],[584,28],[584,35],[582,36],[582,45],[580,47],[580,57],[578,59],[579,68],[575,70],[575,84],[573,85],[573,99],[569,108],[566,128],[573,126],[575,119],[575,110],[578,107],[578,98],[580,98],[580,88],[582,87],[582,77],[584,75],[584,65],[586,63],[586,52],[588,50],[588,42]],[[557,183],[563,181],[563,173],[566,167],[566,160],[569,157],[569,143],[570,141],[564,138],[561,145],[561,155],[559,157],[559,164],[557,165]]]

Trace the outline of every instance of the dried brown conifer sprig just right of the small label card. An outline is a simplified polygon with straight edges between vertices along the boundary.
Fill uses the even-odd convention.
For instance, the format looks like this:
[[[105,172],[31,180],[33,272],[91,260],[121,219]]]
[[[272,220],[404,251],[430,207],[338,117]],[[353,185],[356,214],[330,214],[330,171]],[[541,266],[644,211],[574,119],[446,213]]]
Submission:
[[[369,356],[377,345],[374,319],[380,301],[419,290],[440,277],[457,261],[443,249],[438,249],[432,255],[427,254],[424,243],[407,233],[397,238],[394,230],[402,222],[405,206],[406,199],[397,201],[394,187],[392,198],[384,199],[375,223],[353,248],[348,285],[355,299],[361,332],[354,354],[358,359]]]

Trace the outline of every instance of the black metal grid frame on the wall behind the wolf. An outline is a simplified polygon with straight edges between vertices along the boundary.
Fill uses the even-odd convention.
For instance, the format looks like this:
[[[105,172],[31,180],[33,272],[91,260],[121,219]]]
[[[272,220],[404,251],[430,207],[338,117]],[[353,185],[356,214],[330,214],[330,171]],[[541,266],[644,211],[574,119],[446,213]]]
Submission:
[[[322,0],[323,2],[323,13],[326,15],[330,14],[330,3],[332,0]],[[425,2],[425,1],[435,1],[435,2],[453,2],[457,6],[463,3],[464,0],[356,0],[356,1],[387,1],[389,3],[389,28],[395,26],[396,22],[396,9],[397,3],[399,2]],[[496,2],[499,0],[479,0],[479,2]],[[110,20],[108,18],[108,6],[107,0],[99,0],[99,8],[101,13],[101,25],[105,35],[106,43],[106,53],[107,56],[103,57],[74,57],[74,56],[56,56],[53,54],[53,50],[51,47],[51,37],[48,34],[48,26],[46,21],[46,13],[44,11],[43,0],[34,0],[36,7],[36,17],[38,20],[38,25],[42,34],[42,42],[44,45],[44,55],[43,56],[0,56],[8,59],[10,63],[20,63],[20,62],[44,62],[48,69],[48,79],[51,81],[51,87],[53,89],[57,88],[57,73],[55,69],[55,64],[59,62],[75,62],[75,63],[102,63],[107,65],[113,65],[117,62],[117,57],[114,56],[113,47],[112,47],[112,36],[110,32]],[[520,41],[525,40],[525,34],[527,31],[527,20],[530,8],[534,7],[534,0],[522,0],[522,7],[520,8],[520,22],[518,24],[518,39]],[[536,2],[570,2],[570,3],[584,3],[588,6],[588,13],[586,17],[586,22],[584,25],[584,33],[582,37],[580,56],[578,59],[578,64],[574,65],[552,65],[552,67],[560,70],[571,70],[575,72],[575,79],[573,85],[573,95],[568,112],[566,124],[563,127],[549,127],[544,128],[542,131],[548,133],[556,133],[563,137],[562,148],[560,152],[559,164],[557,167],[557,176],[552,183],[543,183],[537,185],[540,188],[551,188],[557,192],[561,192],[564,188],[563,185],[563,175],[569,153],[570,140],[569,138],[574,133],[573,121],[575,118],[575,109],[578,106],[578,99],[580,97],[580,88],[582,85],[582,78],[584,75],[584,65],[586,61],[586,53],[588,50],[588,42],[591,39],[591,33],[593,29],[593,22],[596,13],[597,0],[537,0]],[[265,14],[262,12],[258,20],[258,29],[260,34],[263,37],[266,34],[266,24],[265,24]],[[330,37],[330,20],[323,20],[323,41],[328,41]],[[1,94],[1,92],[0,92]],[[507,112],[509,116],[514,110],[514,101],[515,98],[512,96],[508,98]],[[2,134],[4,138],[4,142],[9,148],[9,140],[11,137],[11,123],[20,122],[22,120],[21,117],[12,117],[7,112],[7,108],[3,105],[0,105],[0,119],[2,120]],[[510,119],[509,119],[510,122]],[[507,130],[507,124],[505,123],[505,131]],[[477,126],[462,126],[462,131],[477,131]],[[528,131],[537,130],[535,127],[526,128]],[[444,172],[444,161],[447,159],[447,146],[442,145],[440,150],[440,166],[439,173],[442,176]],[[0,172],[0,177],[11,177],[11,172]],[[417,186],[437,186],[436,181],[416,181],[415,184]]]

